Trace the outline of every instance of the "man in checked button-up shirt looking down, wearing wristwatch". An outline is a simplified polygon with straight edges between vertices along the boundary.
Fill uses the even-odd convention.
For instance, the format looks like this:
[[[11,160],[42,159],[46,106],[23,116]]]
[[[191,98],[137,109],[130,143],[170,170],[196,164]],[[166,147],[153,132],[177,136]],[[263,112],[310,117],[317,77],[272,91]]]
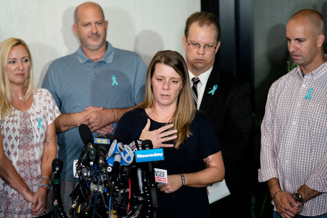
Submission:
[[[323,17],[310,9],[294,14],[286,26],[288,51],[298,66],[270,87],[258,170],[274,217],[327,217],[324,33]]]

